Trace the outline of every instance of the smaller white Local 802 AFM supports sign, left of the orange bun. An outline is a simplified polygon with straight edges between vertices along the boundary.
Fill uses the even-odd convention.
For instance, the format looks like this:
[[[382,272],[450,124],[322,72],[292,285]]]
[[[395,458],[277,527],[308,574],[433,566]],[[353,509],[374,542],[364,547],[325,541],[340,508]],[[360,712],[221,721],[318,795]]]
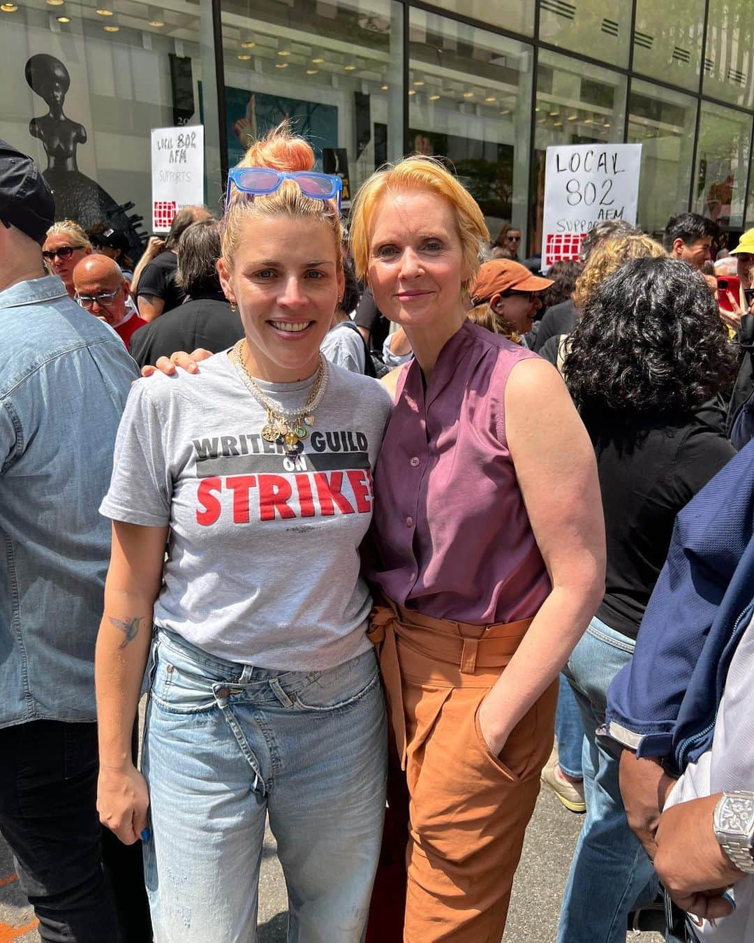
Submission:
[[[152,231],[166,233],[183,207],[205,202],[205,128],[152,129]]]

